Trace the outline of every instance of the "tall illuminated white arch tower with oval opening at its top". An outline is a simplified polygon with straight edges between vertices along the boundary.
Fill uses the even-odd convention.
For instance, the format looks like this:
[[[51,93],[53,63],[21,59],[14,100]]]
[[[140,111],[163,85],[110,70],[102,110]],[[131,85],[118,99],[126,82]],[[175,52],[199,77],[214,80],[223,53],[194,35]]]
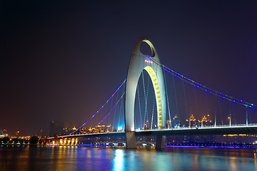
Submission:
[[[134,125],[134,108],[136,98],[136,87],[138,85],[138,79],[143,70],[146,70],[153,83],[154,93],[156,95],[157,106],[157,124],[158,128],[166,127],[166,96],[164,89],[163,71],[161,66],[147,58],[140,51],[140,45],[142,42],[148,43],[151,47],[152,57],[160,62],[158,54],[148,38],[141,38],[133,49],[131,55],[131,61],[129,62],[129,69],[127,74],[126,83],[126,100],[125,100],[125,129],[126,132],[135,131]],[[127,136],[128,137],[128,136]]]

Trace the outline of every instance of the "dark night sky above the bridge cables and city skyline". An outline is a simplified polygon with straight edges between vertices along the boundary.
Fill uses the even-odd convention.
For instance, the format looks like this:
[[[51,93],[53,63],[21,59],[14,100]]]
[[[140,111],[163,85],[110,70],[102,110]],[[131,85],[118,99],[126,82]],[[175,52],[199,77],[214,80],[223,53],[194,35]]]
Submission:
[[[161,63],[257,103],[257,1],[1,1],[0,129],[88,119],[148,37]]]

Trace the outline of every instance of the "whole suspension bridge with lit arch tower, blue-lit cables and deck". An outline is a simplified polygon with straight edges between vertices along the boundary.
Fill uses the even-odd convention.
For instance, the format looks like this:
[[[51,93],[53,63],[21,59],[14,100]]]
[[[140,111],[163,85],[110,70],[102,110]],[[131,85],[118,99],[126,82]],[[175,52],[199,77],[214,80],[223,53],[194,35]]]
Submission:
[[[151,55],[141,53],[141,43],[147,43]],[[127,149],[135,149],[136,136],[156,136],[156,149],[162,149],[166,135],[255,134],[256,110],[253,103],[163,65],[151,41],[141,38],[133,49],[127,78],[106,103],[73,132],[49,140],[76,145],[77,138],[118,136],[126,138]],[[91,128],[94,123],[97,127]]]

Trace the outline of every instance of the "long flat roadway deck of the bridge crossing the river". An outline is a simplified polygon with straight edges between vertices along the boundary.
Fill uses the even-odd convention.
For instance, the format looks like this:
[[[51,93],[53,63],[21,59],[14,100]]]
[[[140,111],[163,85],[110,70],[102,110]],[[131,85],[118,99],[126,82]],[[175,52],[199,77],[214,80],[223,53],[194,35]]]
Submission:
[[[156,135],[228,135],[228,134],[257,134],[257,124],[223,125],[203,128],[170,128],[156,130],[136,130],[136,136],[156,136]],[[91,138],[91,137],[111,137],[125,136],[125,132],[111,133],[89,133],[77,135],[62,135],[57,138]],[[51,139],[51,138],[48,138]]]

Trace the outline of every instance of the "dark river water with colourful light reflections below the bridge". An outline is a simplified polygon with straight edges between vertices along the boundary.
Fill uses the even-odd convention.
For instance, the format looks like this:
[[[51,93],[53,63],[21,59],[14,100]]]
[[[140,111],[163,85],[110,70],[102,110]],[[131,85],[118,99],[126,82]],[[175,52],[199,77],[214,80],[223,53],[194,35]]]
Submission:
[[[0,170],[257,170],[255,148],[0,147]]]

